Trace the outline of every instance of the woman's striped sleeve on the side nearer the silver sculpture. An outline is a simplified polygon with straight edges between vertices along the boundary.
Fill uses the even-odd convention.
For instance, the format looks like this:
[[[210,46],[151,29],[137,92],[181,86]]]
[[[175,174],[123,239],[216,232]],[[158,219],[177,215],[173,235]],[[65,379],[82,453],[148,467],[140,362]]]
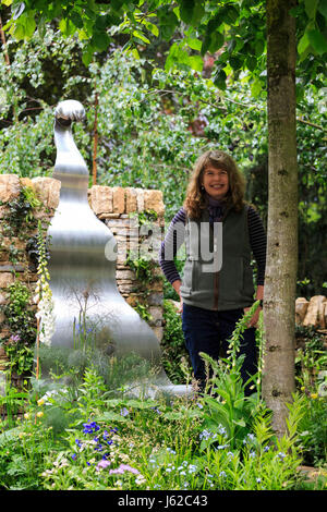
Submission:
[[[170,283],[173,283],[177,280],[181,281],[181,277],[175,268],[173,258],[185,239],[185,211],[181,208],[173,217],[168,228],[159,253],[161,270]]]

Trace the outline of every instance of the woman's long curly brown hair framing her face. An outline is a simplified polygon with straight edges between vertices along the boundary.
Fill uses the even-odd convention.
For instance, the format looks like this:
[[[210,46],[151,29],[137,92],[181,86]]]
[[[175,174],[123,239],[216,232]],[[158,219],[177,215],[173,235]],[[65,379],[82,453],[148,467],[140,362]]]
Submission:
[[[223,169],[228,172],[229,191],[223,202],[235,211],[241,211],[245,204],[245,180],[243,174],[241,174],[235,161],[230,155],[220,150],[208,150],[204,153],[194,164],[183,205],[186,215],[191,219],[198,219],[202,210],[207,207],[207,198],[202,183],[203,173],[208,166],[213,166],[216,169]]]

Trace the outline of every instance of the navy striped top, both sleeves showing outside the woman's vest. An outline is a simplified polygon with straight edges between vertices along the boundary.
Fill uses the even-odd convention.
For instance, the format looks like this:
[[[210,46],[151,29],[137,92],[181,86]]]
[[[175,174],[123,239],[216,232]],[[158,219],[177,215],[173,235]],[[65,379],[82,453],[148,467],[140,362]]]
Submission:
[[[165,251],[166,253],[172,254],[175,257],[177,252],[179,251],[180,246],[184,242],[183,236],[177,236],[177,232],[173,229],[173,225],[177,222],[182,222],[185,224],[186,222],[186,214],[184,208],[181,208],[177,215],[173,217],[168,232],[165,236],[165,240],[161,244],[160,254],[159,254],[159,264],[162,269],[162,272],[166,279],[173,283],[177,280],[181,280],[181,277],[177,270],[174,260],[172,258],[165,259]],[[249,236],[250,236],[250,245],[254,256],[254,259],[257,265],[257,277],[256,283],[264,284],[265,281],[265,269],[266,269],[266,251],[267,251],[267,237],[265,233],[265,229],[259,218],[257,211],[249,206],[249,215],[247,215],[247,225],[249,225]],[[167,251],[172,248],[172,251]]]

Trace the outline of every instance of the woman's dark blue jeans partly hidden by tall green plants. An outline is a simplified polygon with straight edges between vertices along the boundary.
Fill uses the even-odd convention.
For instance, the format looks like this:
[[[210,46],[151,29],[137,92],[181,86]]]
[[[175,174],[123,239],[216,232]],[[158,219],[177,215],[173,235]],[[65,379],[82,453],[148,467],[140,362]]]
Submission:
[[[214,312],[183,304],[182,327],[185,345],[191,357],[194,377],[198,380],[201,390],[205,387],[207,376],[205,374],[205,363],[198,353],[205,352],[216,361],[221,353],[226,357],[228,340],[242,316],[243,309]],[[243,332],[239,355],[241,354],[245,354],[241,368],[241,377],[245,383],[257,371],[254,327]],[[245,395],[250,395],[252,392],[250,386],[252,386],[252,382],[245,387]]]

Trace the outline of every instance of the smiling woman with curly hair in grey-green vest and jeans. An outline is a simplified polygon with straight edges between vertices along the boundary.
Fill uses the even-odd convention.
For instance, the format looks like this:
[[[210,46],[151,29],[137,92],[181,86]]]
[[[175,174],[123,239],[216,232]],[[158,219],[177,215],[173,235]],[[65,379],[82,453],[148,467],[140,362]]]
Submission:
[[[180,296],[185,344],[201,390],[206,374],[198,353],[218,359],[238,320],[255,300],[264,297],[266,235],[256,210],[244,202],[244,179],[229,155],[220,150],[203,154],[195,163],[184,205],[161,245],[160,266]],[[173,261],[182,243],[186,251],[183,280]],[[257,264],[255,298],[252,254]],[[259,309],[241,342],[244,383],[257,370],[255,326]],[[251,394],[251,386],[245,387],[245,393]]]

